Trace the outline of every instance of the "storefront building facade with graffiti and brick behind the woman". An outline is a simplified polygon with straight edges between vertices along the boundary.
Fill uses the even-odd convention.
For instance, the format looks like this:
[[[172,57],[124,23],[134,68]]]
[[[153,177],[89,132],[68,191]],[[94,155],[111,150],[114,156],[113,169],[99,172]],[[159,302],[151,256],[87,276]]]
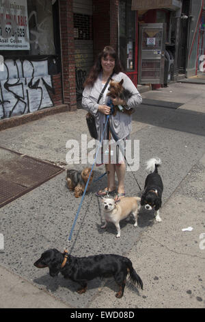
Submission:
[[[0,0],[0,122],[45,108],[76,110],[105,45],[137,84],[196,75],[204,0]]]

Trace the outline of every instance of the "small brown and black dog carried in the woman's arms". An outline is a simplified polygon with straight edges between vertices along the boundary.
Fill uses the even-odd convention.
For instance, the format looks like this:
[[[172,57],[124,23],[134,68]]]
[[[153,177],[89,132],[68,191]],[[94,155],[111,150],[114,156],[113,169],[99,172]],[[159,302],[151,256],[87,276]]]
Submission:
[[[109,93],[107,96],[115,99],[116,97],[122,99],[123,101],[128,101],[129,98],[133,95],[129,90],[126,90],[122,84],[124,82],[124,79],[121,79],[120,82],[114,82],[113,79],[111,79],[111,82],[109,84]],[[126,108],[123,108],[122,106],[115,106],[115,111],[113,112],[113,115],[115,116],[116,112],[122,112],[128,115],[133,114],[134,109],[131,108],[130,110],[126,110]]]

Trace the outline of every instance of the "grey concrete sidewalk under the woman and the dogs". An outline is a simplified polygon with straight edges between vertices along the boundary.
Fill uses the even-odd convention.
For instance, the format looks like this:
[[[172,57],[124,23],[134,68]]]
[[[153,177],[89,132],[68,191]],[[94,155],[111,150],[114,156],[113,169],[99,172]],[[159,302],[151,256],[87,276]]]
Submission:
[[[96,279],[89,282],[87,293],[79,295],[77,284],[60,275],[52,278],[48,269],[33,266],[44,250],[63,251],[67,246],[81,199],[68,191],[63,172],[0,209],[0,233],[4,236],[4,249],[0,251],[1,308],[205,307],[204,95],[202,84],[169,84],[142,94],[145,101],[161,101],[160,106],[143,103],[133,114],[131,138],[139,140],[139,170],[135,176],[141,187],[147,175],[146,160],[154,156],[162,160],[162,222],[156,223],[152,212],[141,210],[137,228],[133,221],[121,223],[120,238],[115,238],[111,224],[106,230],[100,229],[102,206],[94,192],[106,186],[104,177],[85,195],[68,246],[73,256],[127,256],[143,280],[143,290],[127,283],[124,297],[116,299],[115,282]],[[166,102],[182,105],[169,108]],[[0,132],[1,147],[62,164],[69,151],[66,143],[81,143],[81,134],[88,133],[85,114],[79,109],[5,129]],[[80,156],[86,163],[85,144]],[[81,169],[81,164],[70,167]],[[95,177],[104,173],[102,166],[94,167],[94,171]],[[140,195],[128,171],[126,195]],[[183,232],[187,227],[193,230]]]

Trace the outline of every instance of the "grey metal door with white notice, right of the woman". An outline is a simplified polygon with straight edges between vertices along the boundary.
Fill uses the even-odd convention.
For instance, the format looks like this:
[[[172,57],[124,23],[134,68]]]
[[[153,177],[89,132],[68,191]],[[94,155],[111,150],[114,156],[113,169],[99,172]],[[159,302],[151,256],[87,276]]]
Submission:
[[[165,23],[139,25],[138,84],[163,84]]]

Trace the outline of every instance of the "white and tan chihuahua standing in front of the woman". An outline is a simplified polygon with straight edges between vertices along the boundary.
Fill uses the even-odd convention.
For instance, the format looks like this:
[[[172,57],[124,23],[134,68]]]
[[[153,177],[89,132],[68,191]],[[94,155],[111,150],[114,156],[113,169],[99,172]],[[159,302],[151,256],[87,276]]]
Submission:
[[[137,213],[140,209],[139,197],[124,197],[120,199],[119,202],[116,202],[114,199],[102,198],[104,216],[105,216],[105,225],[101,228],[105,228],[108,222],[111,222],[117,228],[118,234],[116,237],[120,237],[120,221],[126,219],[129,214],[133,214],[135,218],[134,226],[137,227]]]

